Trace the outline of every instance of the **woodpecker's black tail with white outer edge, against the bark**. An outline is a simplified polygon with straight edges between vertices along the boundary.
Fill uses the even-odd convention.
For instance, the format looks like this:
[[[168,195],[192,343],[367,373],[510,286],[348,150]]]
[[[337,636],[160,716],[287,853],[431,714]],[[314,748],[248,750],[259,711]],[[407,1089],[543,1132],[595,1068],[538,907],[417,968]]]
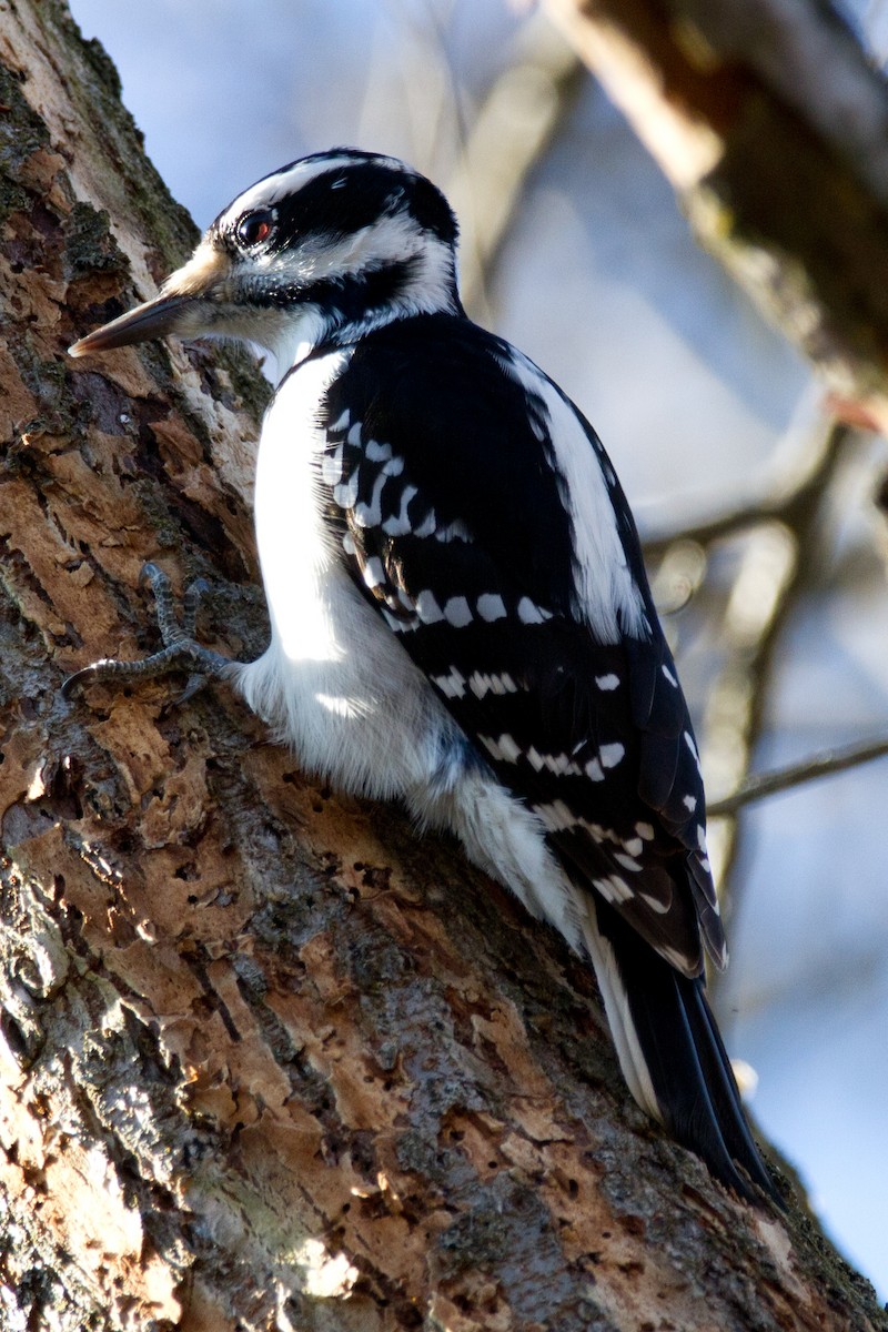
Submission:
[[[703,978],[678,972],[606,902],[592,910],[587,946],[632,1095],[723,1184],[759,1201],[758,1184],[783,1205],[752,1140]]]

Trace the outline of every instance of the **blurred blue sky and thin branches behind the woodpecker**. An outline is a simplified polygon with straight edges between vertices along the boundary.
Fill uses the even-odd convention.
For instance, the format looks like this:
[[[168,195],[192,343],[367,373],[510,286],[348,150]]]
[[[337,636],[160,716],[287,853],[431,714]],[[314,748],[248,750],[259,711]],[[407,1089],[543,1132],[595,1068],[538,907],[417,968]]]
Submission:
[[[335,144],[405,157],[450,194],[470,312],[560,382],[614,458],[711,801],[750,767],[888,733],[888,545],[872,502],[884,442],[831,424],[807,365],[696,246],[543,13],[509,0],[71,7],[201,228],[253,180]],[[881,61],[888,4],[847,17]],[[788,493],[816,502],[781,507]],[[750,1066],[764,1134],[883,1300],[887,795],[881,761],[712,825],[728,1050]]]

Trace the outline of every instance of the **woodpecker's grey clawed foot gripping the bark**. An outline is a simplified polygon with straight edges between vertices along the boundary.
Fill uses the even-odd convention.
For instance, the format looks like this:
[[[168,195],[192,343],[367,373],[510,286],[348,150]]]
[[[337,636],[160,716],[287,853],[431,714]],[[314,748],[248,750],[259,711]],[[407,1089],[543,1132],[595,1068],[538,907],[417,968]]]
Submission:
[[[61,686],[64,698],[71,698],[84,685],[132,685],[142,679],[154,679],[168,671],[189,671],[188,683],[178,702],[182,703],[201,689],[212,677],[226,674],[233,662],[221,653],[214,653],[210,647],[204,647],[194,638],[197,625],[197,609],[201,597],[208,590],[204,578],[197,578],[189,583],[182,595],[181,619],[176,617],[176,599],[169,578],[157,565],[148,563],[140,574],[140,583],[149,583],[154,594],[157,613],[157,627],[160,629],[164,646],[150,657],[136,662],[120,662],[111,657],[91,662],[83,670],[69,675]]]

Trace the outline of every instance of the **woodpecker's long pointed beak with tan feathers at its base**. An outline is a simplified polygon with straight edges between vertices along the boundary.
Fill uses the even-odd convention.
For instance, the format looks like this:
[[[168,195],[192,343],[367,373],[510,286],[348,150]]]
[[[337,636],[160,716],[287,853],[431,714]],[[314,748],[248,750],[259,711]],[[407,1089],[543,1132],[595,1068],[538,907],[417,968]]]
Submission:
[[[204,241],[178,272],[168,277],[160,296],[81,337],[69,356],[91,356],[152,338],[200,337],[212,332],[220,294],[230,273],[228,258]]]

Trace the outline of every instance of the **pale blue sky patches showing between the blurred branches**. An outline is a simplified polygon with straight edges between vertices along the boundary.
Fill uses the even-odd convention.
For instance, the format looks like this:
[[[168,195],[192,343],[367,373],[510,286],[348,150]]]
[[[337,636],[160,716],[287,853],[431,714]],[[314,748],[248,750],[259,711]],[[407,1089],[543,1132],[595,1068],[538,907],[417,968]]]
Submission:
[[[406,157],[446,189],[529,13],[506,0],[254,0],[248,21],[240,0],[71,3],[201,226],[253,180],[334,144]],[[595,424],[643,530],[767,492],[811,429],[807,368],[696,248],[591,83],[531,176],[489,296],[497,330]],[[849,501],[852,545],[869,542],[863,510]],[[840,582],[825,610],[803,606],[758,766],[885,729],[887,633],[872,577]],[[885,765],[857,770],[750,813],[719,991],[728,1047],[759,1075],[754,1112],[883,1300],[887,782]]]

